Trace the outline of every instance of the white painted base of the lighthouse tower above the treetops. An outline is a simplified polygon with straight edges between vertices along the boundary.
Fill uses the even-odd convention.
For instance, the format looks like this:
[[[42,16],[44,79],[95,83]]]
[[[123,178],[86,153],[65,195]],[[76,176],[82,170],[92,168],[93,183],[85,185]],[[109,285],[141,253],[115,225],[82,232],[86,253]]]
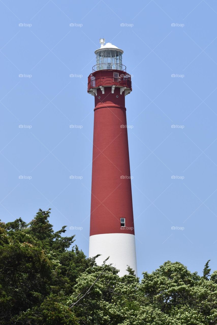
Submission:
[[[97,254],[102,254],[96,259],[98,265],[102,265],[103,261],[110,256],[107,264],[113,263],[112,266],[120,270],[119,276],[129,274],[126,271],[128,265],[135,271],[137,276],[134,235],[115,233],[90,236],[89,257]]]

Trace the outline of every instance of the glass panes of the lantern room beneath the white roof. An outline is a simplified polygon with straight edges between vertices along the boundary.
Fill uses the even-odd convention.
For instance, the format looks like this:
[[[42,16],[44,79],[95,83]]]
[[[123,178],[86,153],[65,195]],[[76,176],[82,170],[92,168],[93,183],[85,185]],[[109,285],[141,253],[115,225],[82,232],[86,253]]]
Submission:
[[[97,71],[122,70],[122,53],[117,50],[101,50],[96,53]]]

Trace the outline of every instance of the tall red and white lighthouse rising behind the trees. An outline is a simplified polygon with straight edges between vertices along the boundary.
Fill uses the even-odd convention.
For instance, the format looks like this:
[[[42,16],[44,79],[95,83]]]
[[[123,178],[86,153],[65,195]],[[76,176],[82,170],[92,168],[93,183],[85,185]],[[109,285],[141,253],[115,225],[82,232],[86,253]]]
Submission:
[[[89,257],[109,256],[128,274],[137,276],[135,233],[125,96],[132,91],[131,76],[122,64],[123,50],[100,39],[96,65],[88,76],[88,93],[94,96],[93,161]]]

